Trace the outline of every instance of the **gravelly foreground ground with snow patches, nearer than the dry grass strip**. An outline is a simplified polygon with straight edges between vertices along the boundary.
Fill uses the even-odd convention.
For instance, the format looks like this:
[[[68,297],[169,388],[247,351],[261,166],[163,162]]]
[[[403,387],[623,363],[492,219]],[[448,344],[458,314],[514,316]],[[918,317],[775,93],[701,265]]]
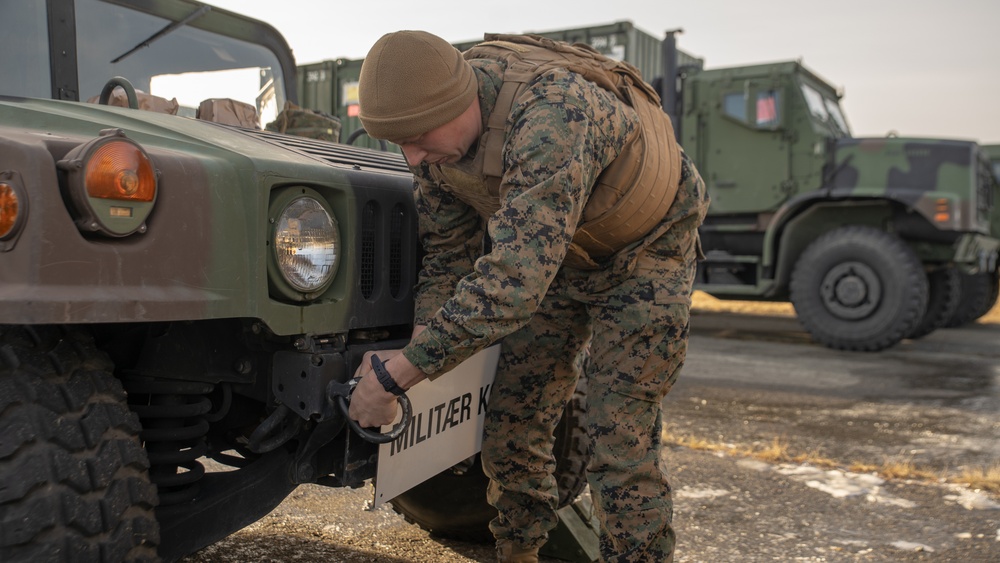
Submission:
[[[1000,505],[965,489],[686,448],[664,457],[677,561],[1000,561]],[[371,495],[300,487],[263,520],[183,561],[495,560],[490,546],[436,541],[388,506],[366,509]]]

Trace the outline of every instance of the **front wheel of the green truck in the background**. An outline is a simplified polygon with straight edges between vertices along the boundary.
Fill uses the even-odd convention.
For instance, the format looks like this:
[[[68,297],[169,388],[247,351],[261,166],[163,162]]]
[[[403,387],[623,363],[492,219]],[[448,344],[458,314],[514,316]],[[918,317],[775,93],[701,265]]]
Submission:
[[[810,244],[792,272],[799,322],[820,343],[874,352],[909,334],[927,308],[927,276],[899,237],[841,227]]]

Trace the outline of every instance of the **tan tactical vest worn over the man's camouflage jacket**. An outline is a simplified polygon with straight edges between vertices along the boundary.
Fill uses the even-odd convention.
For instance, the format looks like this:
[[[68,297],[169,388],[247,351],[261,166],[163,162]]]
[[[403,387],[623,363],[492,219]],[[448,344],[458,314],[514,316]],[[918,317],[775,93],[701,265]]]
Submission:
[[[639,116],[635,133],[598,176],[565,264],[598,268],[599,260],[641,240],[663,220],[677,195],[680,147],[659,95],[638,69],[589,45],[538,35],[487,34],[485,42],[467,50],[464,57],[505,61],[507,69],[475,159],[458,166],[432,166],[435,180],[459,192],[482,216],[495,213],[500,207],[504,130],[514,101],[538,76],[564,68],[613,93]]]

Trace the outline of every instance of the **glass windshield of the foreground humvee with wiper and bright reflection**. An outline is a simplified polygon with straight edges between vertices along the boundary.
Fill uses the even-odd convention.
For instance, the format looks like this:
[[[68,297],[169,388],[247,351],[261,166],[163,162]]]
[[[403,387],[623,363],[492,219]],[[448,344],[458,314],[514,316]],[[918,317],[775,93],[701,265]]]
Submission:
[[[101,0],[77,0],[75,12],[81,101],[122,76],[137,90],[176,98],[178,113],[192,117],[202,100],[232,98],[257,107],[263,126],[285,103],[280,63],[265,47],[185,25],[126,55],[173,22]],[[46,2],[0,4],[0,37],[0,95],[52,97]]]

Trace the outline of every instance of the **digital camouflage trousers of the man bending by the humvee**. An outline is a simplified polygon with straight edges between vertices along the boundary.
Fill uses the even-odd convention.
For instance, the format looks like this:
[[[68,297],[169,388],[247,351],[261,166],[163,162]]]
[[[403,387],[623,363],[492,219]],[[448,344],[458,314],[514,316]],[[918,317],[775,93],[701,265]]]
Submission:
[[[553,431],[586,364],[587,481],[602,557],[672,559],[661,402],[687,351],[697,223],[675,224],[611,287],[558,276],[530,322],[503,340],[482,450],[498,540],[540,546],[556,525]]]

